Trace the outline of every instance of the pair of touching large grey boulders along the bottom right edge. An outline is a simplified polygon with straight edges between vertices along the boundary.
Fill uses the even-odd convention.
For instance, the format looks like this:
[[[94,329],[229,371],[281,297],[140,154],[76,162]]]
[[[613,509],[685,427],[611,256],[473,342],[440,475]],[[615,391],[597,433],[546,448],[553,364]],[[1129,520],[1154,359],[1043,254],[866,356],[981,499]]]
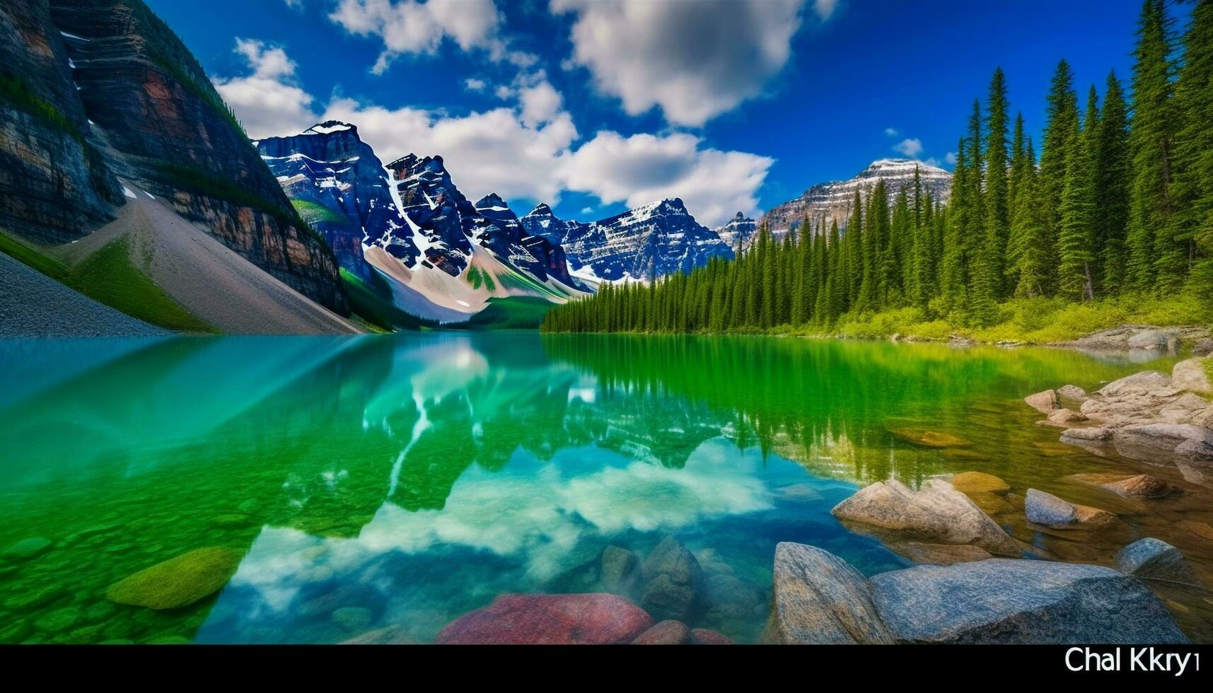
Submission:
[[[774,643],[1181,643],[1139,580],[1100,566],[990,558],[865,580],[821,549],[780,544]]]

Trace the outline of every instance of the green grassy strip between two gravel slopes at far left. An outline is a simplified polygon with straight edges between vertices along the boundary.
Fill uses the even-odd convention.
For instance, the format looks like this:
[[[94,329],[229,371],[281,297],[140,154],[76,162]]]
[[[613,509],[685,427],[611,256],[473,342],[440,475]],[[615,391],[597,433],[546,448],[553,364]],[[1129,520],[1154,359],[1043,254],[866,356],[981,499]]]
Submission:
[[[125,239],[110,242],[82,262],[68,266],[38,248],[0,233],[0,252],[90,299],[146,323],[182,333],[220,330],[173,301],[131,261]]]

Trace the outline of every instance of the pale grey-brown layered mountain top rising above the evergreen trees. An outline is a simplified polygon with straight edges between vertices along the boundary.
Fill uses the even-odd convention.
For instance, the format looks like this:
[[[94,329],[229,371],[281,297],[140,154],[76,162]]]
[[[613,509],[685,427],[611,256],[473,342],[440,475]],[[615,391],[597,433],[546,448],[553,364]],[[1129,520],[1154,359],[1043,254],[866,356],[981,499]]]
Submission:
[[[805,215],[814,227],[822,223],[828,227],[835,221],[843,227],[850,217],[855,191],[866,197],[876,186],[876,181],[883,178],[892,204],[902,187],[913,184],[915,169],[918,170],[923,194],[929,193],[935,201],[947,201],[952,191],[950,172],[913,159],[879,159],[849,181],[819,183],[804,191],[804,194],[795,200],[771,208],[763,217],[763,222],[770,225],[775,238],[799,228]]]

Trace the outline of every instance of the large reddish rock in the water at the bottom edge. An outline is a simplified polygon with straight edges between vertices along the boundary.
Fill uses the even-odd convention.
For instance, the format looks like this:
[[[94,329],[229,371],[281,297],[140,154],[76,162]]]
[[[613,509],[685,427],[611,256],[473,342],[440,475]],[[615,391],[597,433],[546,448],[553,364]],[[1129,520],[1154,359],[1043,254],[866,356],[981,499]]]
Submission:
[[[503,595],[463,614],[438,644],[625,644],[653,618],[615,595]]]

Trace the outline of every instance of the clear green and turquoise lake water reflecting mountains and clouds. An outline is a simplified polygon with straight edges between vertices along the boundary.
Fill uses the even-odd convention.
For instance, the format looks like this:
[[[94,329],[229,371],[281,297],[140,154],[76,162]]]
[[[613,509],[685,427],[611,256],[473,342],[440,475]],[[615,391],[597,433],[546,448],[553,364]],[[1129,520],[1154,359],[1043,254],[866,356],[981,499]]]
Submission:
[[[340,642],[388,625],[427,642],[501,593],[599,591],[603,547],[643,558],[667,534],[765,603],[779,541],[866,574],[911,564],[830,509],[872,481],[967,470],[1126,521],[1042,534],[1021,509],[997,516],[1042,556],[1111,564],[1158,536],[1209,581],[1213,543],[1178,524],[1213,523],[1208,489],[1060,444],[1020,399],[1141,368],[769,337],[0,342],[0,549],[50,541],[0,559],[0,642]],[[916,448],[902,428],[969,445]],[[1185,493],[1126,501],[1065,478],[1141,471]],[[106,598],[207,546],[243,555],[217,596],[165,612]],[[1213,640],[1207,593],[1164,597]],[[691,625],[752,641],[764,619],[718,608]]]

